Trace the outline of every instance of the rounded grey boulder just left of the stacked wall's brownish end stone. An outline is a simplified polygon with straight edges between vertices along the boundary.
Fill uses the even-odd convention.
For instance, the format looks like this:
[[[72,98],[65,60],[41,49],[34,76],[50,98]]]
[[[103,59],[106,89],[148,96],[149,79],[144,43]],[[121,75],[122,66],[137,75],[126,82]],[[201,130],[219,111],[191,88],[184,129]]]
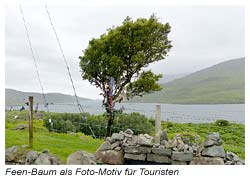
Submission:
[[[76,151],[67,159],[68,165],[95,165],[95,156],[85,151]]]

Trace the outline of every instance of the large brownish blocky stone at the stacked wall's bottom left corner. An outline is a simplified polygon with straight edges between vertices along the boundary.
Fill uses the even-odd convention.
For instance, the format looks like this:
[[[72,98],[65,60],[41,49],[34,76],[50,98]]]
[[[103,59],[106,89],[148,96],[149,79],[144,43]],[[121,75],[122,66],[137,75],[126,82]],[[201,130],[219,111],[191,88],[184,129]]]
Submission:
[[[95,153],[95,158],[97,163],[100,164],[113,164],[113,165],[124,164],[124,152],[122,150],[97,151]]]

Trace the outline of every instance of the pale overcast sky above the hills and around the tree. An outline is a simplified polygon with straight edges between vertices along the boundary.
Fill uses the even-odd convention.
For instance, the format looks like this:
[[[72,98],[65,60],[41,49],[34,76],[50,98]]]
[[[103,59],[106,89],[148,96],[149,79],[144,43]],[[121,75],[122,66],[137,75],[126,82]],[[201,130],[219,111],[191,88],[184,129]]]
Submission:
[[[195,72],[244,56],[244,7],[241,6],[48,6],[79,96],[100,98],[99,90],[81,79],[78,57],[88,41],[122,23],[126,16],[156,13],[169,22],[173,48],[151,66],[156,73]],[[23,6],[45,92],[73,94],[62,55],[45,8]],[[41,92],[19,6],[6,7],[6,87]]]

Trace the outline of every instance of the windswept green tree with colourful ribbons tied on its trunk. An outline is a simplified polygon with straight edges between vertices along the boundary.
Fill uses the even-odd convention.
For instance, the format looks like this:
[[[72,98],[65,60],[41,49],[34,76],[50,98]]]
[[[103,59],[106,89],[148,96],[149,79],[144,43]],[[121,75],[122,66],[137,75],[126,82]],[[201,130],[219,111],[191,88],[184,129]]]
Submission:
[[[129,99],[161,90],[157,83],[161,74],[156,75],[146,67],[168,55],[172,47],[168,39],[170,29],[168,23],[159,22],[155,15],[135,21],[127,17],[122,25],[90,40],[79,57],[82,78],[103,92],[103,105],[109,114],[107,136],[111,134],[114,106],[122,100],[121,95],[126,94]],[[111,79],[112,87],[108,86]]]

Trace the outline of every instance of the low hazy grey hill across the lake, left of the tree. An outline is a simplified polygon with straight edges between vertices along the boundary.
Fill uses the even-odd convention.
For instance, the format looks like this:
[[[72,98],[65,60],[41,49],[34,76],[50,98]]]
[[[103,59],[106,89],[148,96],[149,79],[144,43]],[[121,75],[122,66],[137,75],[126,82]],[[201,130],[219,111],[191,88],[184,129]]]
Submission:
[[[41,93],[22,92],[14,89],[5,89],[5,105],[20,105],[28,101],[28,96],[33,96],[36,103],[43,103],[43,96]],[[75,97],[61,93],[47,93],[45,94],[47,103],[75,103]],[[90,100],[79,97],[79,101]]]

